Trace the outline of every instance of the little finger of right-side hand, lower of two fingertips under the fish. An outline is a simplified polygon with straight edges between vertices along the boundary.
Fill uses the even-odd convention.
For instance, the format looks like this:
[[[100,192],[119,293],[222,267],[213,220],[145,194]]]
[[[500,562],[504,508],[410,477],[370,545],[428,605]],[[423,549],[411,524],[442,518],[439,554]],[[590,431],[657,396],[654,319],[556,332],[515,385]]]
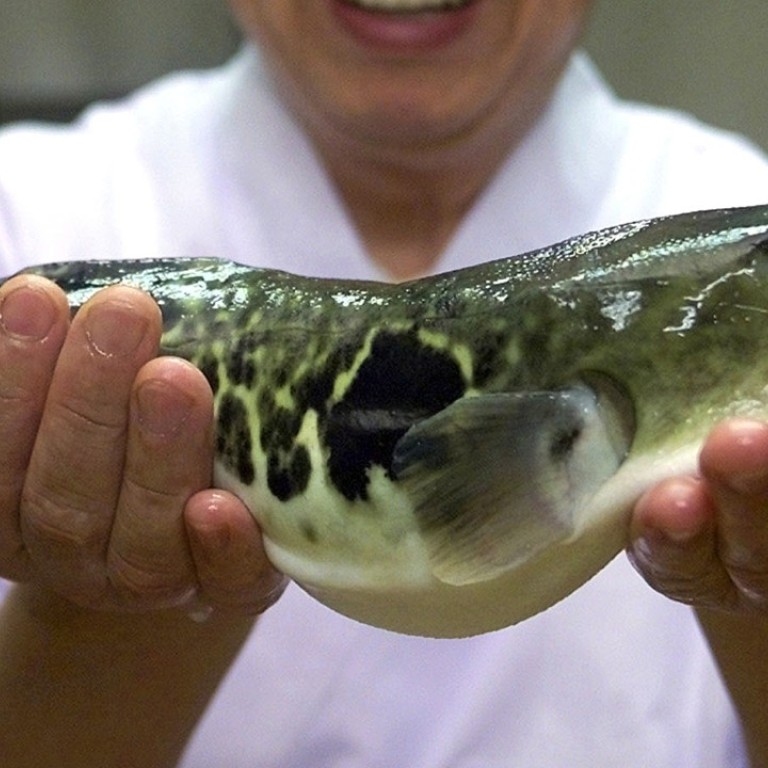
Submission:
[[[717,554],[715,515],[701,480],[659,483],[635,507],[630,560],[654,589],[673,600],[735,607],[737,591]]]

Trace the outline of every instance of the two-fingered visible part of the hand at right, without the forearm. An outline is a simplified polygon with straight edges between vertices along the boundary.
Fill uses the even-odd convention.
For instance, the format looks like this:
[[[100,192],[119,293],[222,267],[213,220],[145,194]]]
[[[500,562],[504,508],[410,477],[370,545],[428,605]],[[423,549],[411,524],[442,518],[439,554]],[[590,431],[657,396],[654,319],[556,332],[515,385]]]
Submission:
[[[699,464],[638,501],[629,557],[674,600],[768,616],[768,424],[722,422]]]

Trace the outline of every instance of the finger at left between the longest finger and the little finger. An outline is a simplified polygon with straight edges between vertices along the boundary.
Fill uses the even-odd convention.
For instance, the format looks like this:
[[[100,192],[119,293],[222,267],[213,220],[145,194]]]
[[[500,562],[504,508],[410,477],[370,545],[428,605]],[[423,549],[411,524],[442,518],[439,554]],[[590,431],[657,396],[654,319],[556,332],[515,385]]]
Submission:
[[[124,606],[178,604],[197,586],[183,509],[210,486],[212,425],[213,396],[200,371],[174,358],[142,368],[107,560]]]

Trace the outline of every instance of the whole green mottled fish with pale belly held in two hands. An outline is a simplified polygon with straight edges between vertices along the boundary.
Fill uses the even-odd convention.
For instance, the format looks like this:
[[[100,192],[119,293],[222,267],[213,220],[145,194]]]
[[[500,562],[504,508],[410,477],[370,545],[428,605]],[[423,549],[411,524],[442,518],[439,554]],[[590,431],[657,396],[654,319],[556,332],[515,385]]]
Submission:
[[[129,284],[214,393],[217,486],[274,565],[395,632],[501,629],[628,543],[718,420],[768,417],[768,206],[696,211],[388,284],[218,258],[25,270]]]

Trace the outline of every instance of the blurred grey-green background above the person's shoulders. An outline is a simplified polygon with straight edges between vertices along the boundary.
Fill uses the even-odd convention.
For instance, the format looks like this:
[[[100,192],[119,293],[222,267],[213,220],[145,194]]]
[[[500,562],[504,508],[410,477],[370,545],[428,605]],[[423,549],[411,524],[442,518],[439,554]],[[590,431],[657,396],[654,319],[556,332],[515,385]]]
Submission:
[[[671,105],[768,149],[765,0],[602,0],[585,46],[623,96]],[[0,122],[68,119],[181,67],[225,60],[224,0],[0,0]]]

